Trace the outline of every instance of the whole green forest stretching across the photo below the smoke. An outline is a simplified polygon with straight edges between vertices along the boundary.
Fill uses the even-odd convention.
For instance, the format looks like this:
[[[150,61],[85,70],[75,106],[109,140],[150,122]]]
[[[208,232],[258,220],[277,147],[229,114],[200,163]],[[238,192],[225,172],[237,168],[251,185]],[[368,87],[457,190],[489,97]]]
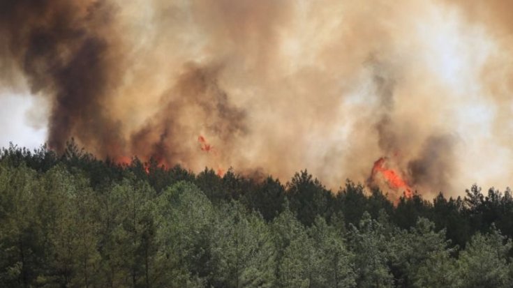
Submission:
[[[0,287],[512,287],[510,190],[394,206],[287,183],[10,146]]]

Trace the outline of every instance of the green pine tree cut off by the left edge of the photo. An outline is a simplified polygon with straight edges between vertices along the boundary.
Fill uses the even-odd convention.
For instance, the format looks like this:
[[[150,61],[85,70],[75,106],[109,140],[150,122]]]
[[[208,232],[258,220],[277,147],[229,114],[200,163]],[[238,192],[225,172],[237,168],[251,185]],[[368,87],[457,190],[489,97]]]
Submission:
[[[33,170],[0,163],[0,284],[30,287],[41,255],[41,231],[36,212],[38,185]]]

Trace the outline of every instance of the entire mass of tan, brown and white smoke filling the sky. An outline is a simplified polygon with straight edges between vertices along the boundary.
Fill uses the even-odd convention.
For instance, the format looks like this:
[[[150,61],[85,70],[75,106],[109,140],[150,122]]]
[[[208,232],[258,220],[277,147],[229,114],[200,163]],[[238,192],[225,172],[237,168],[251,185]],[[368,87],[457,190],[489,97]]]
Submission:
[[[308,168],[335,189],[385,157],[419,192],[457,194],[510,184],[506,4],[4,0],[0,85],[49,103],[57,151]]]

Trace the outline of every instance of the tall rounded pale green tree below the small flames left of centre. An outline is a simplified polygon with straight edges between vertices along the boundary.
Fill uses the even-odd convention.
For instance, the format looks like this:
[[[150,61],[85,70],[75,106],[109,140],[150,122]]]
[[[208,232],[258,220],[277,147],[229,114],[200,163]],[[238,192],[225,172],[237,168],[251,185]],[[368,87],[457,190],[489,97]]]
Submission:
[[[178,182],[156,199],[159,255],[170,270],[172,287],[189,287],[211,275],[211,238],[215,211],[195,185]],[[165,271],[165,269],[163,269]],[[163,281],[165,282],[165,281]]]

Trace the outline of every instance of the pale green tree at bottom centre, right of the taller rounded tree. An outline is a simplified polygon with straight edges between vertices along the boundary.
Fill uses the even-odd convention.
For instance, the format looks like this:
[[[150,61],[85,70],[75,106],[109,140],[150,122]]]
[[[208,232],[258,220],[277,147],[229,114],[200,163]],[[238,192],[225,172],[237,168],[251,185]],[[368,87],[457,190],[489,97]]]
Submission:
[[[211,242],[215,287],[275,287],[275,247],[259,214],[237,202],[223,205]]]

